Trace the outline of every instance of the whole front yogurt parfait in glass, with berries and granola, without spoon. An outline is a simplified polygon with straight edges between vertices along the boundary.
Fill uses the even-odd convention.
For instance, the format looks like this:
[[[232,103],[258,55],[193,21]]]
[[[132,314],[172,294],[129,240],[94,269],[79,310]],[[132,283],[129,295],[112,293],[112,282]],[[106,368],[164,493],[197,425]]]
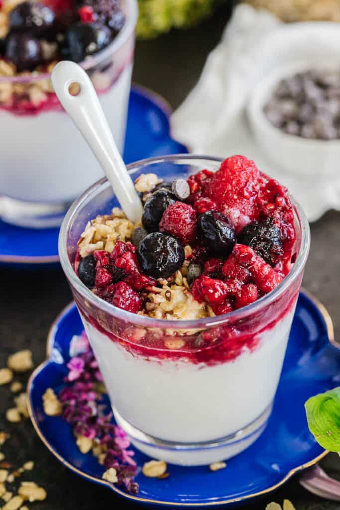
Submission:
[[[221,461],[270,417],[308,223],[243,156],[170,156],[129,170],[141,222],[99,181],[63,222],[61,263],[135,446],[175,464]]]

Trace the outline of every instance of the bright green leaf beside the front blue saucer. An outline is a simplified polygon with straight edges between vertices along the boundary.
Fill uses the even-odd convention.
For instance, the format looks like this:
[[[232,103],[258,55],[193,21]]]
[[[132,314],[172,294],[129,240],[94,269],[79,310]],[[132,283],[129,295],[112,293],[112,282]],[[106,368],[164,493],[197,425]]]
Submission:
[[[308,428],[325,450],[340,451],[340,388],[311,397],[305,403]]]

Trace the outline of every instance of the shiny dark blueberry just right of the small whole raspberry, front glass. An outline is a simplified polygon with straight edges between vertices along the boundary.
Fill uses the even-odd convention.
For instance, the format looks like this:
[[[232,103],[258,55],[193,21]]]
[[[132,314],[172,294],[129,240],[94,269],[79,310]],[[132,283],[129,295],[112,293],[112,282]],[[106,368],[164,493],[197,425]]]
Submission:
[[[228,257],[236,244],[235,229],[226,216],[206,211],[197,220],[197,232],[210,253]]]

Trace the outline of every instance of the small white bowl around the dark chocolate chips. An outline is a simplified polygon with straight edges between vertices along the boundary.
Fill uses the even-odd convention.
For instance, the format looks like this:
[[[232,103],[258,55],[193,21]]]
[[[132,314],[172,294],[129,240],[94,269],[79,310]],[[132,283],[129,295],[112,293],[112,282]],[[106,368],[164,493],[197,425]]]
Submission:
[[[340,70],[340,24],[283,25],[265,38],[259,50],[263,65],[255,71],[257,80],[247,107],[258,145],[275,165],[287,172],[319,177],[337,174],[340,140],[308,140],[287,135],[268,120],[263,108],[282,78],[308,69]]]

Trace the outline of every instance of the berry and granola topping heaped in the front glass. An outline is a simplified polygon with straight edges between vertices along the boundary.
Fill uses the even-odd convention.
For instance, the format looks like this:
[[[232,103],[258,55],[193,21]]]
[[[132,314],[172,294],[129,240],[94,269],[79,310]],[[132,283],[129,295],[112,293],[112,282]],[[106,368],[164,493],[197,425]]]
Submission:
[[[294,253],[287,190],[233,156],[213,173],[162,183],[141,175],[142,224],[121,211],[92,220],[75,270],[102,299],[166,319],[221,315],[275,289]]]

